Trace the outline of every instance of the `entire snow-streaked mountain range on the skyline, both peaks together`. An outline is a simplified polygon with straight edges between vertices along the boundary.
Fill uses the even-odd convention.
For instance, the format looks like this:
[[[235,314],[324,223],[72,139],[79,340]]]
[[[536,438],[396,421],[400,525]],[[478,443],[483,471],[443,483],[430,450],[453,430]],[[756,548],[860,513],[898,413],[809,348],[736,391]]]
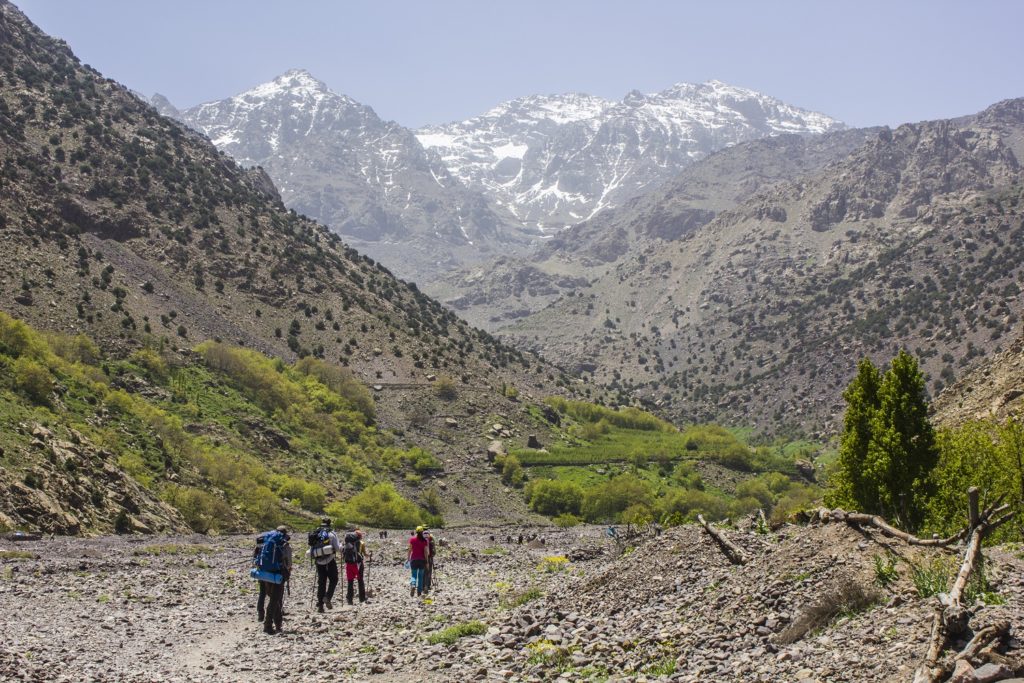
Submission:
[[[719,82],[631,93],[524,97],[418,131],[293,70],[236,96],[177,110],[287,206],[433,292],[447,270],[523,251],[656,186],[711,152],[784,133],[842,128]]]

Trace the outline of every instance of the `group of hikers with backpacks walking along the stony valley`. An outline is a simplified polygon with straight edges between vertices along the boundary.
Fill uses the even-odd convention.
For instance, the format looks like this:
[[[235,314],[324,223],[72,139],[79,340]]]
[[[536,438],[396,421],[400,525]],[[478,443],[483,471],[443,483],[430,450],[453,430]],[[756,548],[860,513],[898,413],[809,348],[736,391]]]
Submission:
[[[381,538],[387,538],[381,536]],[[319,526],[308,535],[306,555],[316,567],[316,611],[333,609],[334,592],[338,586],[338,557],[345,564],[348,590],[345,600],[353,604],[358,586],[359,602],[367,602],[366,567],[371,555],[361,529],[346,531],[339,539],[331,519],[324,517]],[[410,569],[410,596],[422,596],[433,584],[436,544],[429,529],[417,526],[410,532],[406,567]],[[256,617],[267,634],[281,633],[284,622],[285,587],[290,585],[293,557],[291,535],[287,526],[279,526],[256,537],[250,575],[259,583]]]

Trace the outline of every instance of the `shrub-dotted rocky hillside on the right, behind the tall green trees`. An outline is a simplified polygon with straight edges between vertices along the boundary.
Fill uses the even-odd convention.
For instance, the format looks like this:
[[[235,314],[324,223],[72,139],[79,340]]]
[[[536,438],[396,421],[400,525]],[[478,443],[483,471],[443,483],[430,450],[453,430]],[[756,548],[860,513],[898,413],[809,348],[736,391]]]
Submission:
[[[883,130],[503,334],[683,421],[833,429],[856,360],[900,346],[937,392],[1018,332],[1022,128],[1009,100]]]

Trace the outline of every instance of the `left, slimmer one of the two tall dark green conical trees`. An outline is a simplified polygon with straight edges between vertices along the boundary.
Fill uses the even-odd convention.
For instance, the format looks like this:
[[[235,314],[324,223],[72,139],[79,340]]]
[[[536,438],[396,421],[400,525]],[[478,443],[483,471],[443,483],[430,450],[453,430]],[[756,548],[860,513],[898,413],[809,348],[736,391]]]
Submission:
[[[871,438],[871,420],[879,408],[879,369],[870,358],[857,366],[857,376],[843,392],[846,415],[840,439],[838,469],[825,503],[831,507],[865,509],[868,501],[878,500],[878,490],[864,477],[867,446]]]

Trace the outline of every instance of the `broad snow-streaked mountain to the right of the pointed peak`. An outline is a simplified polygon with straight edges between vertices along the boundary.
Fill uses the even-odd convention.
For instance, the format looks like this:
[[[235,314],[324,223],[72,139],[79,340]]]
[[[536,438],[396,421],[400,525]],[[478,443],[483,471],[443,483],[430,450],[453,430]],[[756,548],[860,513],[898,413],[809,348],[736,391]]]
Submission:
[[[622,101],[528,96],[416,135],[469,187],[543,230],[578,223],[672,178],[722,147],[839,121],[719,81]]]

